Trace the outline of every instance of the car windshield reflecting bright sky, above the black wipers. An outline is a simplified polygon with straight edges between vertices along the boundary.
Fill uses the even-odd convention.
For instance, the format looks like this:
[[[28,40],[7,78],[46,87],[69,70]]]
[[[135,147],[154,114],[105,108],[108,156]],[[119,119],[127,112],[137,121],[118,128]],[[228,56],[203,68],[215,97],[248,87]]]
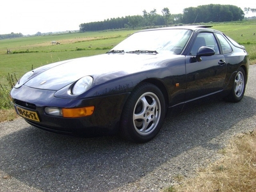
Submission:
[[[155,51],[155,53],[171,52],[172,54],[180,54],[191,34],[192,31],[189,29],[140,31],[126,38],[112,50],[122,50],[127,53]]]

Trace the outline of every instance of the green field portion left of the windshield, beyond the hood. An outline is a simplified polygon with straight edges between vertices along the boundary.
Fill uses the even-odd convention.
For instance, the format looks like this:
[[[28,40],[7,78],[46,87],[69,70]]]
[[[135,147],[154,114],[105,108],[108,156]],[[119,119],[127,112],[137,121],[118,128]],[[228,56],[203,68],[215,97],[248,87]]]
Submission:
[[[7,84],[8,73],[20,78],[31,68],[56,61],[102,54],[133,31],[68,33],[63,35],[31,36],[0,41],[0,83]],[[51,41],[60,42],[52,45]],[[7,54],[7,49],[12,53]]]

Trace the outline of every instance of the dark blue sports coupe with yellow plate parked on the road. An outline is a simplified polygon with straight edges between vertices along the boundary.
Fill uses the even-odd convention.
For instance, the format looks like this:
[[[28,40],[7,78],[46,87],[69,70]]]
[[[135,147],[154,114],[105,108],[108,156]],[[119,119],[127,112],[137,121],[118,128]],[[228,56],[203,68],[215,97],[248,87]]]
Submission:
[[[12,89],[29,124],[62,134],[152,140],[168,109],[214,95],[243,98],[244,47],[209,26],[138,31],[106,54],[60,61],[26,73]]]

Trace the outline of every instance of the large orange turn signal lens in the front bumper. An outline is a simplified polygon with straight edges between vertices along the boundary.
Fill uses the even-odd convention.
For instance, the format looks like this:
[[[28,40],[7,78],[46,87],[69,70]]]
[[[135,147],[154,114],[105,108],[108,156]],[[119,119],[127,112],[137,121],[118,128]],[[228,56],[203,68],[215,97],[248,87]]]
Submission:
[[[90,116],[93,114],[94,106],[84,107],[84,108],[64,108],[62,109],[63,117],[81,117]]]

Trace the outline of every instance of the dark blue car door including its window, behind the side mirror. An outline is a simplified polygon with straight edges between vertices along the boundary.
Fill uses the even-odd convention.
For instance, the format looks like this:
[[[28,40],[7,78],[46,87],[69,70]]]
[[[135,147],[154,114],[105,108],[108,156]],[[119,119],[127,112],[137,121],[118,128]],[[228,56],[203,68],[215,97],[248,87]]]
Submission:
[[[202,46],[214,49],[213,56],[202,56],[202,61],[195,60],[198,49]],[[227,65],[213,33],[198,33],[190,54],[186,56],[186,100],[196,99],[223,90]]]

